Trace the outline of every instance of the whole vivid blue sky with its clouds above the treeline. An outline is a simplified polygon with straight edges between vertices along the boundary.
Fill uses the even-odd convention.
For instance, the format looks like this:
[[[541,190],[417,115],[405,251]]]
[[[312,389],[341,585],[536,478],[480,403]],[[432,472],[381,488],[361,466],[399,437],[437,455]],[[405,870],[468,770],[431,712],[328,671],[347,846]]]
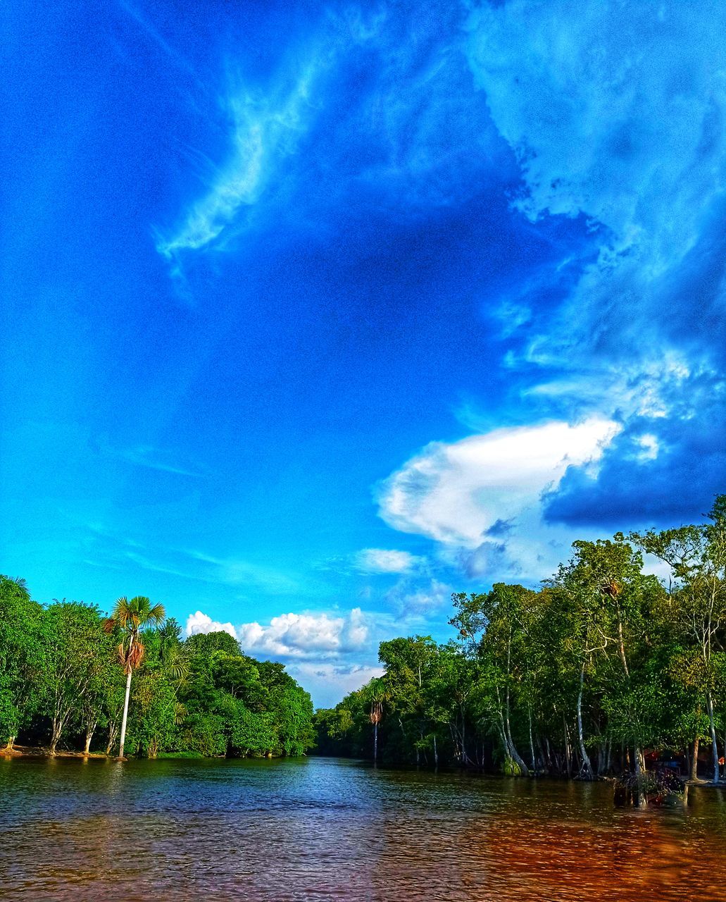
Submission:
[[[721,3],[16,3],[0,569],[317,704],[726,490]]]

